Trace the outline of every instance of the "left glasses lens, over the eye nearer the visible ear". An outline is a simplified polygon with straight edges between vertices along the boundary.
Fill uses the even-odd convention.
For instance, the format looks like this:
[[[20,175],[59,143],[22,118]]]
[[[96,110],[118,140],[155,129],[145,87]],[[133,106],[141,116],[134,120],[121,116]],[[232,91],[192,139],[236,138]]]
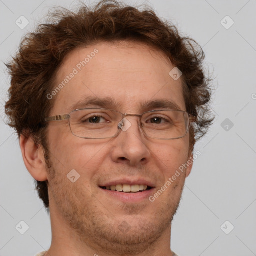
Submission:
[[[81,138],[109,138],[117,132],[122,115],[114,110],[90,108],[70,113],[70,128]]]

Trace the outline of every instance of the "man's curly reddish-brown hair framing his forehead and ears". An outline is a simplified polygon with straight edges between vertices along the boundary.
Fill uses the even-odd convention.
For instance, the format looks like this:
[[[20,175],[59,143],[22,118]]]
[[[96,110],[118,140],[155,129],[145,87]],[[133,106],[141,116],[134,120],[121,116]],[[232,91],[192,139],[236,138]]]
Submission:
[[[214,117],[210,115],[211,79],[204,73],[204,52],[189,37],[182,37],[170,22],[161,20],[146,7],[126,6],[115,0],[102,0],[93,7],[84,4],[76,12],[57,8],[48,21],[21,41],[17,54],[6,64],[11,76],[5,113],[8,124],[18,137],[32,136],[42,145],[49,160],[46,143],[48,116],[54,99],[52,91],[55,72],[64,57],[77,47],[97,42],[130,40],[161,50],[182,72],[186,111],[197,121],[190,126],[189,148],[208,130]],[[49,207],[48,181],[35,181],[39,197]]]

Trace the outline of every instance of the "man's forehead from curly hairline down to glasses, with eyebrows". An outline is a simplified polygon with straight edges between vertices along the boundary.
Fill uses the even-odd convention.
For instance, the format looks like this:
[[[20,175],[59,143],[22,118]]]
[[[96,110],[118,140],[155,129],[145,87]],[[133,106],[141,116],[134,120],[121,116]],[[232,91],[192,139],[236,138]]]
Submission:
[[[82,106],[102,107],[96,102],[106,98],[105,102],[113,103],[112,108],[129,113],[148,105],[158,104],[160,108],[161,100],[185,110],[181,78],[174,80],[169,75],[173,68],[161,51],[143,44],[103,42],[77,48],[56,73],[53,90],[57,92],[51,113],[68,113]],[[148,104],[151,101],[156,103]]]

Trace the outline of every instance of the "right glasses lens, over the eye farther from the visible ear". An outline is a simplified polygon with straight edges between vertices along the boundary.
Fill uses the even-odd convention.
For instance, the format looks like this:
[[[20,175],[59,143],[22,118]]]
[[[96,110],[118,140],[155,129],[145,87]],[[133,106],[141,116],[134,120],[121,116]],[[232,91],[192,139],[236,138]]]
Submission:
[[[159,110],[144,113],[141,122],[148,137],[174,139],[185,136],[189,116],[188,113],[182,111]]]

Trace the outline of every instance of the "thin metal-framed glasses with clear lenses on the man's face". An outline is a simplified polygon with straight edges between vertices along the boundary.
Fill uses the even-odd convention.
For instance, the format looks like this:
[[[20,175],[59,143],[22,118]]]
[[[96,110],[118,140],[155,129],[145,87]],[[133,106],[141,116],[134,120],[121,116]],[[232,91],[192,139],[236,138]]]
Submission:
[[[196,117],[181,110],[151,110],[142,114],[127,114],[106,108],[83,108],[69,114],[55,115],[45,121],[68,120],[73,135],[86,139],[103,139],[118,136],[131,123],[124,117],[139,117],[138,126],[143,134],[155,139],[177,139],[186,135]]]

